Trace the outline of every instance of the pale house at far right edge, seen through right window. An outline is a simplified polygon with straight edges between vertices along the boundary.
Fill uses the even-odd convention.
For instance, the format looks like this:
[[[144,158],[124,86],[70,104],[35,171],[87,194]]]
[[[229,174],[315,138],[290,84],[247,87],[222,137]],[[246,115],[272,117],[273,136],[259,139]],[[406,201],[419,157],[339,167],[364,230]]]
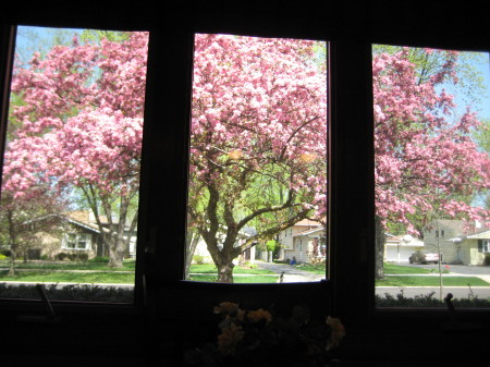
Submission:
[[[490,256],[490,228],[478,221],[439,219],[424,231],[427,250],[441,252],[448,264],[482,265]]]

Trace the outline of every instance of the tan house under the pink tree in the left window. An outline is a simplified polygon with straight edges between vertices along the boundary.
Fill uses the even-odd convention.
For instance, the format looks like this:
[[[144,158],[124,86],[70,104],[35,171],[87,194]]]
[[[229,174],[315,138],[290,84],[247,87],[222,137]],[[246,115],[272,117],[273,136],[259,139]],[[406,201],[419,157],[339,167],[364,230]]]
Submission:
[[[46,220],[54,221],[49,231],[37,225]],[[101,218],[103,231],[109,231],[109,223]],[[90,211],[72,211],[66,215],[50,215],[30,220],[28,225],[36,231],[36,241],[28,248],[30,259],[90,259],[96,256],[107,256],[108,249],[102,241],[99,227]],[[126,232],[126,235],[128,233]],[[130,242],[130,256],[136,254],[136,235]]]

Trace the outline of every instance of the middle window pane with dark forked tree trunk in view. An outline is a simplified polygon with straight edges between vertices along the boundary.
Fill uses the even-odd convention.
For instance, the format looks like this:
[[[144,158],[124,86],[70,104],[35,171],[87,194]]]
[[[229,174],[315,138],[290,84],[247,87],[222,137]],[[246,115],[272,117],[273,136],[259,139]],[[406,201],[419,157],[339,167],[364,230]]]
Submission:
[[[195,36],[188,280],[324,278],[326,56],[323,41]]]

